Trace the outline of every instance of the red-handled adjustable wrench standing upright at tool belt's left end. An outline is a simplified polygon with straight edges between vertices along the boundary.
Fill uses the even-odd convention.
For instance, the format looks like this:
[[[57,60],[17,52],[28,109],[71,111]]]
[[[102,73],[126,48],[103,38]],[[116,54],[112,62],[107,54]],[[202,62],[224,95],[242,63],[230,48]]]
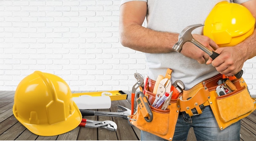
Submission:
[[[134,114],[134,99],[135,99],[135,92],[137,88],[144,85],[144,78],[139,73],[134,73],[134,77],[137,79],[137,82],[132,86],[132,95],[131,95],[131,115]]]

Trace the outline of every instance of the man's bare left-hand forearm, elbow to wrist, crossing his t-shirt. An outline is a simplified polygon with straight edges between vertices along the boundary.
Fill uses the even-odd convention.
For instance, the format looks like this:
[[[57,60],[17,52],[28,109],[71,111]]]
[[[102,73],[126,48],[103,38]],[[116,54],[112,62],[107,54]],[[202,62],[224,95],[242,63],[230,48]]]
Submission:
[[[120,40],[123,46],[145,53],[168,53],[178,40],[178,34],[154,31],[138,24],[121,26]]]

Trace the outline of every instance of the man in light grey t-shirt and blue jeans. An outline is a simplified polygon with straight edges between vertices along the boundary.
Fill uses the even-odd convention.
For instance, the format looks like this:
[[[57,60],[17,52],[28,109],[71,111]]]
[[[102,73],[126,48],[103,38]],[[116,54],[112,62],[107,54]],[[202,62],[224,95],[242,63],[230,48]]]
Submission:
[[[120,9],[120,39],[127,46],[146,54],[148,77],[156,80],[171,68],[172,81],[182,80],[186,89],[219,73],[231,76],[238,73],[244,62],[256,56],[256,32],[240,44],[221,47],[202,35],[202,28],[193,31],[193,37],[220,55],[212,60],[209,55],[190,42],[183,45],[181,53],[172,47],[179,33],[192,24],[204,24],[211,9],[223,0],[122,0]],[[229,0],[226,0],[230,2]],[[256,0],[233,0],[247,7],[256,18]],[[146,17],[147,27],[141,26]],[[220,130],[207,106],[201,115],[189,117],[182,112],[176,124],[173,140],[186,140],[193,127],[197,140],[240,140],[240,121]],[[141,131],[141,140],[163,140]]]

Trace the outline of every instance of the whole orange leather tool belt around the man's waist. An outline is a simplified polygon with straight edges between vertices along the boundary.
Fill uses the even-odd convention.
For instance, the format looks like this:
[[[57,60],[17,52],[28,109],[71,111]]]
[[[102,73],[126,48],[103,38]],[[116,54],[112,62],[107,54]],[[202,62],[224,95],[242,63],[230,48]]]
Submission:
[[[150,106],[153,112],[151,122],[146,122],[141,116],[140,109],[137,108],[135,115],[129,117],[131,119],[130,123],[140,130],[172,140],[179,112],[186,112],[190,116],[195,116],[202,114],[205,106],[211,106],[218,126],[220,130],[223,130],[252,113],[256,109],[256,100],[249,94],[247,84],[243,78],[232,80],[236,90],[218,96],[216,88],[224,85],[218,85],[221,78],[222,75],[219,74],[198,83],[189,90],[183,90],[180,97],[171,99],[166,110]],[[148,79],[144,94],[150,104],[155,101],[154,87],[155,81]]]

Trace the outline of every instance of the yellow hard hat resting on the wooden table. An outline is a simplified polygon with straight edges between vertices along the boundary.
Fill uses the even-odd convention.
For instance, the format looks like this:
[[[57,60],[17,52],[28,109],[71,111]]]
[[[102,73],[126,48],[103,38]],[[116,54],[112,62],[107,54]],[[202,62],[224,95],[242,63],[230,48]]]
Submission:
[[[13,115],[29,131],[40,136],[69,132],[82,120],[67,83],[56,75],[40,71],[18,84]]]

